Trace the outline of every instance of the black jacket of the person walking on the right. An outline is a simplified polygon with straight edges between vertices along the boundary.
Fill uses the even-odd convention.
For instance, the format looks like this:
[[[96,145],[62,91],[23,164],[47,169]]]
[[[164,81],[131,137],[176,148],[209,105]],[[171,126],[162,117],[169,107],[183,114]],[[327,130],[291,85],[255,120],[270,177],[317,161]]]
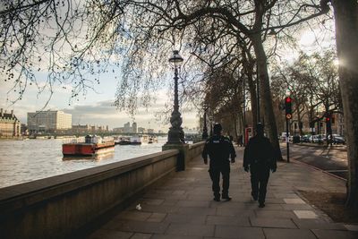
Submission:
[[[243,152],[243,166],[247,167],[252,164],[276,169],[277,163],[274,148],[268,138],[256,135],[250,139],[245,147]]]

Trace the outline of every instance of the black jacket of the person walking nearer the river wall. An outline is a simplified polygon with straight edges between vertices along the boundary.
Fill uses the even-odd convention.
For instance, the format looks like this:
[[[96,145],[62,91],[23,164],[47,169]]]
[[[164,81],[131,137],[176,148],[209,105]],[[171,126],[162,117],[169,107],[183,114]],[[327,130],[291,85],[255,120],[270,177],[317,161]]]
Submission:
[[[208,155],[210,165],[225,164],[228,162],[229,157],[231,159],[236,157],[233,143],[228,138],[220,135],[214,135],[206,141],[201,156],[204,160],[207,160]]]

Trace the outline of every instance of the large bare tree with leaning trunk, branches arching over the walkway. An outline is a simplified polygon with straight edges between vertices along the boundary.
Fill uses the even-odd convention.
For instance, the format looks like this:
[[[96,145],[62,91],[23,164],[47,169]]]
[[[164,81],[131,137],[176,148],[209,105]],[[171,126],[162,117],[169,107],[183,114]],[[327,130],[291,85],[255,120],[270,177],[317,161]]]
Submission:
[[[88,88],[94,88],[83,75],[81,71],[83,68],[88,68],[89,73],[96,73],[101,69],[100,64],[112,64],[115,61],[112,57],[124,56],[120,57],[124,60],[124,77],[118,86],[115,105],[119,108],[129,108],[130,113],[137,106],[140,94],[144,96],[141,97],[144,105],[149,102],[149,89],[158,85],[157,80],[162,77],[167,65],[165,56],[169,55],[173,46],[190,50],[200,60],[205,58],[200,57],[201,55],[209,55],[211,59],[215,59],[216,55],[224,54],[223,48],[205,48],[205,46],[210,44],[220,46],[222,42],[229,42],[233,47],[226,48],[225,54],[230,55],[230,52],[234,53],[231,49],[239,47],[237,36],[249,38],[257,59],[261,85],[260,100],[261,105],[264,106],[268,134],[280,157],[268,81],[267,55],[263,42],[268,30],[284,30],[286,27],[327,12],[327,8],[322,8],[320,4],[311,4],[311,1],[307,3],[310,4],[298,0],[285,3],[277,0],[196,0],[185,3],[178,0],[146,2],[113,0],[85,1],[73,7],[71,0],[61,3],[55,0],[38,2],[28,0],[21,4],[6,2],[4,11],[0,15],[5,24],[22,26],[10,28],[10,35],[2,35],[3,42],[6,43],[12,41],[13,37],[10,36],[21,36],[19,45],[25,42],[30,52],[26,54],[21,50],[18,51],[18,45],[12,45],[15,48],[14,52],[19,52],[20,56],[35,52],[34,48],[27,45],[39,46],[37,43],[41,42],[38,40],[38,36],[41,36],[38,34],[41,33],[41,24],[48,24],[47,18],[55,15],[54,36],[50,38],[48,54],[59,59],[55,59],[52,61],[54,64],[49,64],[47,67],[51,72],[47,85],[51,86],[55,82],[71,82],[74,85],[73,97]],[[13,19],[11,18],[13,15],[20,17]],[[29,23],[32,21],[35,26],[32,29],[35,31],[29,32],[31,28],[26,26],[31,25]],[[38,24],[38,22],[44,23]],[[3,25],[2,29],[6,33],[9,28]],[[21,35],[20,31],[17,32],[19,29],[27,34]],[[71,36],[73,38],[70,38]],[[30,43],[28,38],[33,43]],[[65,50],[68,48],[70,54],[66,54]],[[59,50],[62,50],[60,54],[58,54]],[[13,55],[15,54],[4,55],[7,59],[4,65],[10,64],[11,69],[16,68],[17,73],[21,73],[25,79],[34,81],[33,75],[26,77],[19,70],[23,64],[26,64],[24,69],[31,69],[31,65],[27,65],[30,58],[24,57],[22,64],[11,64],[10,59]],[[59,72],[56,71],[56,67]],[[24,90],[22,86],[25,83],[21,82],[21,92]]]

